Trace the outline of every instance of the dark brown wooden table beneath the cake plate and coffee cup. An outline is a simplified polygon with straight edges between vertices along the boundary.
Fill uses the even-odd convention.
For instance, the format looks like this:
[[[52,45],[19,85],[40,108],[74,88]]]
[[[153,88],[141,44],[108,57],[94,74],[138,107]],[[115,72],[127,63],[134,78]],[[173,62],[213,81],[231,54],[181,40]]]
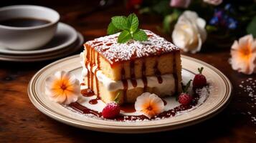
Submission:
[[[86,1],[62,1],[54,5],[48,0],[32,4],[49,6],[59,11],[61,21],[74,26],[85,37],[85,41],[104,36],[111,16],[127,14],[122,3],[79,19],[77,14],[90,11],[98,1],[90,4]],[[156,26],[161,24],[160,17],[140,16],[140,21],[141,28],[150,29],[171,40],[170,36],[161,34],[156,29]],[[211,46],[203,48],[198,54],[183,54],[206,61],[222,71],[234,87],[232,101],[223,112],[205,122],[184,129],[153,134],[92,132],[57,122],[39,112],[27,96],[29,80],[39,69],[54,60],[37,63],[0,61],[0,142],[120,142],[123,139],[159,139],[163,142],[256,142],[256,122],[252,122],[252,117],[256,116],[256,99],[252,101],[248,92],[240,87],[241,82],[248,78],[255,80],[255,74],[247,76],[233,71],[228,63],[229,49]],[[77,54],[79,52],[77,51]]]

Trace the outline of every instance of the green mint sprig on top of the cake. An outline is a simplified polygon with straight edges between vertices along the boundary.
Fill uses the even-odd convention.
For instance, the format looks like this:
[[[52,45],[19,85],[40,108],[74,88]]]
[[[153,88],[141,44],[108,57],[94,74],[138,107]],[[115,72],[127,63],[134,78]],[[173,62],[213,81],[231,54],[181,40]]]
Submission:
[[[118,43],[125,43],[131,39],[137,41],[147,41],[148,36],[145,31],[138,29],[138,17],[136,14],[125,16],[113,16],[108,25],[108,34],[115,34],[120,32],[118,36]]]

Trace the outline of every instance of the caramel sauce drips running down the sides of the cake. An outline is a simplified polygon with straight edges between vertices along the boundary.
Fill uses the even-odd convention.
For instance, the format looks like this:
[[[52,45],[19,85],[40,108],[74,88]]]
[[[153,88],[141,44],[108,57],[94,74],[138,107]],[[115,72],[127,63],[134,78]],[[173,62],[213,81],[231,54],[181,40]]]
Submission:
[[[97,72],[100,70],[100,54],[97,52],[97,55],[95,55],[95,50],[90,48],[90,46],[86,46],[87,49],[87,61],[85,62],[85,66],[88,67],[88,65],[90,64],[90,71],[87,68],[87,85],[88,85],[88,89],[83,90],[83,94],[87,94],[87,96],[91,96],[92,94],[94,94],[93,89],[93,82],[94,82],[94,78],[95,78],[95,85],[96,85],[96,90],[97,90],[97,94],[98,97],[100,95],[99,93],[99,83],[98,83],[98,78],[97,78]],[[176,71],[176,52],[173,52],[174,54],[174,59],[173,59],[173,75],[174,75],[174,79],[175,79],[175,89],[176,92],[178,92],[178,76],[177,73],[174,72]],[[95,57],[96,56],[96,57]],[[97,64],[96,64],[97,63]],[[93,67],[97,65],[97,68],[95,69],[95,72],[93,73]],[[111,64],[111,67],[113,65]],[[137,87],[138,83],[136,81],[136,75],[135,75],[135,61],[131,60],[130,61],[130,74],[131,74],[131,83],[133,85],[133,87]],[[154,70],[154,74],[156,76],[156,78],[158,79],[158,83],[161,84],[163,82],[163,79],[161,77],[161,72],[158,69],[158,61],[156,61],[155,65],[153,66],[153,70]],[[146,62],[145,59],[143,59],[142,62],[142,67],[141,67],[141,73],[142,73],[142,81],[144,84],[143,87],[143,92],[147,91],[147,87],[148,87],[148,81],[146,78]],[[126,102],[127,100],[127,90],[128,90],[128,81],[125,78],[125,69],[124,69],[124,63],[122,63],[122,69],[121,69],[121,81],[123,82],[123,100],[124,102]]]

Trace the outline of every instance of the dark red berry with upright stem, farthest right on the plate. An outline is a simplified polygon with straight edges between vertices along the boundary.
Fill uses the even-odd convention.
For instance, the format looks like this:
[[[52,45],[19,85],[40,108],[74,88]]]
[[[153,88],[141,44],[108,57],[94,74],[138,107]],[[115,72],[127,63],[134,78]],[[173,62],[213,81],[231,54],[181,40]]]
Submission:
[[[203,67],[198,69],[199,74],[196,74],[196,76],[194,77],[193,89],[201,89],[202,87],[207,85],[207,78],[204,77],[204,75],[202,74],[203,69]]]

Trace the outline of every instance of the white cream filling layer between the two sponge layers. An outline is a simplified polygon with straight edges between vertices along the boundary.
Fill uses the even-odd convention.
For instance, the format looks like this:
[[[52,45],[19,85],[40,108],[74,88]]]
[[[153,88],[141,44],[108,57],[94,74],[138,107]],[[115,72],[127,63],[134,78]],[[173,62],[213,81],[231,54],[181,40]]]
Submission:
[[[82,56],[82,77],[87,77],[87,71],[90,71],[90,65],[88,67],[85,67],[85,57],[83,52],[81,53]],[[98,65],[93,66],[93,70],[90,72],[95,73],[95,69],[97,69]],[[88,69],[88,70],[87,70]],[[98,78],[98,81],[103,83],[103,86],[108,89],[108,91],[113,92],[117,91],[118,89],[124,89],[123,82],[122,81],[114,81],[103,74],[101,70],[98,70],[96,73],[96,77]],[[173,74],[164,74],[161,75],[163,82],[161,84],[158,83],[158,79],[155,76],[152,77],[146,77],[148,85],[147,87],[154,87],[158,89],[160,94],[173,94],[175,92],[175,81]],[[128,89],[134,89],[136,87],[133,87],[133,84],[131,83],[130,79],[127,79],[128,82]],[[143,80],[142,79],[136,79],[137,87],[144,87]]]

